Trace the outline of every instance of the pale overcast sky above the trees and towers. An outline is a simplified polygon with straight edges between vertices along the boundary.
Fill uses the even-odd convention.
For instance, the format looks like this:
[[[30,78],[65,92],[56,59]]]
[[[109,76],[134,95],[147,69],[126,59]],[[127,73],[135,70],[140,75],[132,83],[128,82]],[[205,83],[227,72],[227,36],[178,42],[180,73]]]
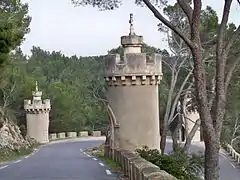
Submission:
[[[129,14],[134,14],[134,29],[144,42],[157,48],[167,43],[158,31],[159,21],[146,7],[138,7],[135,0],[123,0],[114,11],[99,11],[92,7],[74,7],[71,0],[22,0],[29,4],[32,17],[30,33],[21,48],[30,55],[32,46],[48,51],[61,51],[67,56],[105,55],[120,45],[120,37],[129,33]],[[236,1],[236,0],[235,0]],[[203,0],[222,15],[223,0]],[[233,3],[230,21],[240,24],[240,7]]]

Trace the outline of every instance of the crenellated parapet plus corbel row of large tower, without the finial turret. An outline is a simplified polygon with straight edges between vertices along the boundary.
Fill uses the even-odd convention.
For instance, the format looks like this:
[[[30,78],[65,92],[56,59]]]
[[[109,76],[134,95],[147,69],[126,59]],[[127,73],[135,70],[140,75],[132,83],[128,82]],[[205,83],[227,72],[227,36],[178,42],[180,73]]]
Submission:
[[[107,55],[105,78],[109,86],[159,84],[162,57],[160,54],[128,53],[121,60],[119,54]]]

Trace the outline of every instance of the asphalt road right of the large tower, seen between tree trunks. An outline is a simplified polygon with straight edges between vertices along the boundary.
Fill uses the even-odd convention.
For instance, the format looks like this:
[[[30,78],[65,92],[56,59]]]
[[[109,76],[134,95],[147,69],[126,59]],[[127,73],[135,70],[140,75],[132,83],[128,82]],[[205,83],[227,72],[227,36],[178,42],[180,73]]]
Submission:
[[[171,152],[172,143],[167,142],[166,153]],[[204,145],[201,143],[193,143],[190,148],[191,152],[204,152]],[[240,168],[234,163],[224,151],[220,151],[220,180],[240,180]]]

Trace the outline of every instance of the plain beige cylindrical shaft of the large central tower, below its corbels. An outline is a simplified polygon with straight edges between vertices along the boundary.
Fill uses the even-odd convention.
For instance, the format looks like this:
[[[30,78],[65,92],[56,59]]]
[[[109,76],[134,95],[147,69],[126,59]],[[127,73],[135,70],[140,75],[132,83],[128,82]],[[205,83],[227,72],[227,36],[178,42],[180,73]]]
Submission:
[[[108,99],[120,125],[119,148],[160,148],[157,85],[112,86]]]

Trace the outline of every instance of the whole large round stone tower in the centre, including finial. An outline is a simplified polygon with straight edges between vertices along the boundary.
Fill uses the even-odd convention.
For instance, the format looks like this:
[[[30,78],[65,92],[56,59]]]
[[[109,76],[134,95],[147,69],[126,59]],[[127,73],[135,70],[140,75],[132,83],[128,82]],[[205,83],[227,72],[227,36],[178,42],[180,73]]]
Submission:
[[[141,52],[143,37],[133,32],[132,14],[129,22],[129,35],[121,37],[124,58],[111,54],[105,59],[107,98],[116,121],[114,148],[135,150],[146,145],[159,149],[161,55]]]

